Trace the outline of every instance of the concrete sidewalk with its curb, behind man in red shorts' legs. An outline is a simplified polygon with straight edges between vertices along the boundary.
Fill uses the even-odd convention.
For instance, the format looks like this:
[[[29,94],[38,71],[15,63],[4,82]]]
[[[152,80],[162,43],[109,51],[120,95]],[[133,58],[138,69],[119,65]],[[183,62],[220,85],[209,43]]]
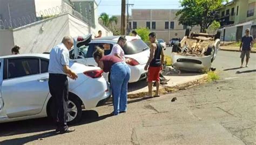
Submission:
[[[188,86],[197,85],[202,83],[207,78],[207,74],[171,74],[165,75],[166,79],[170,79],[165,85],[160,85],[160,95],[186,89]],[[156,90],[156,86],[153,86],[153,91]],[[147,95],[147,81],[142,80],[136,83],[131,83],[128,86],[128,98],[139,98]],[[154,92],[153,92],[154,95]]]

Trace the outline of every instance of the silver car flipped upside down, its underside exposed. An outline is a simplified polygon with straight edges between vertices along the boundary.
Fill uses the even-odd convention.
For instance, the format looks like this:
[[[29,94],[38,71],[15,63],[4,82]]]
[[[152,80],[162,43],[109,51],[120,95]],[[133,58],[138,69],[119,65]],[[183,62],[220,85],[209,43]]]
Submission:
[[[199,73],[209,71],[219,50],[220,34],[220,30],[215,35],[193,33],[191,27],[187,27],[185,37],[173,45],[173,68]]]

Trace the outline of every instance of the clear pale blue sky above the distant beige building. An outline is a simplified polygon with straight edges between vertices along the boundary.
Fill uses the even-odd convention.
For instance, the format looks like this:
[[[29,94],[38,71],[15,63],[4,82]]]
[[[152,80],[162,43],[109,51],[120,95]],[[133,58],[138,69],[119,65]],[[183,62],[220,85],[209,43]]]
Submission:
[[[180,9],[179,0],[126,0],[130,4],[129,13],[131,9]],[[231,0],[229,0],[231,1]],[[98,15],[106,12],[110,15],[121,15],[121,0],[96,0],[99,4]]]

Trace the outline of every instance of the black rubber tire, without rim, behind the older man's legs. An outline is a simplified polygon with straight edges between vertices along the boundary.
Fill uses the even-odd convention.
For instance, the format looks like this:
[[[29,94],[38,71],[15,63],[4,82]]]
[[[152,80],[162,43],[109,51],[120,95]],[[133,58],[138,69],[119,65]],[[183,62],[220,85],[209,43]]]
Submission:
[[[54,117],[54,103],[53,103],[53,99],[51,98],[49,100],[48,106],[47,106],[47,115],[48,118],[50,118],[51,120],[53,120]],[[73,94],[69,94],[69,101],[68,101],[68,110],[69,108],[72,108],[73,106],[75,106],[76,110],[74,110],[73,112],[68,111],[68,115],[72,115],[75,116],[74,119],[68,121],[67,120],[67,124],[71,125],[71,124],[76,124],[77,122],[80,121],[80,119],[82,118],[82,103],[81,101],[78,99],[77,96],[73,95]],[[74,114],[76,113],[76,114]]]

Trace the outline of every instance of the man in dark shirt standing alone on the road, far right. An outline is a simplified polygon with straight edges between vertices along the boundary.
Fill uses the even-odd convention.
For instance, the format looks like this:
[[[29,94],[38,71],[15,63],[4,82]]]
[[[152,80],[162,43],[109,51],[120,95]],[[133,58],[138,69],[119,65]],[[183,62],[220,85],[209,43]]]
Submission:
[[[245,35],[244,37],[242,37],[241,40],[241,45],[240,45],[240,58],[241,58],[241,66],[240,68],[242,68],[242,64],[244,63],[244,59],[245,59],[245,55],[246,55],[246,66],[248,67],[248,62],[250,59],[250,52],[252,50],[252,46],[253,46],[253,36],[250,35],[250,28],[247,28],[245,30]]]

